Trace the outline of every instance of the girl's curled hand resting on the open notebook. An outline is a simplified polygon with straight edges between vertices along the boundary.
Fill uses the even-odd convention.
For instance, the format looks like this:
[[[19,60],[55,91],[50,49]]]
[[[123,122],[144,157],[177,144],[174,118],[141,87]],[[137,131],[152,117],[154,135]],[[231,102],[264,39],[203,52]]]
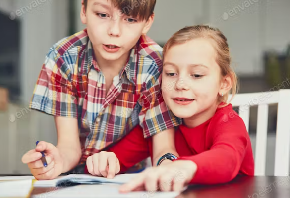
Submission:
[[[113,178],[120,172],[120,162],[114,152],[101,151],[87,158],[89,173],[95,176]]]

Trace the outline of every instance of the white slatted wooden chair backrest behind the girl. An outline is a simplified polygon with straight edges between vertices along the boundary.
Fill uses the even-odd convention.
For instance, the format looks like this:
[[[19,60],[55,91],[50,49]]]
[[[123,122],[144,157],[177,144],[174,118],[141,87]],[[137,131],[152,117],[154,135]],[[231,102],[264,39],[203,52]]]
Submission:
[[[232,95],[229,96],[231,99]],[[258,106],[255,175],[265,175],[269,104],[278,104],[274,175],[289,175],[290,154],[290,89],[259,93],[236,94],[231,101],[239,108],[247,131],[249,129],[250,107]]]

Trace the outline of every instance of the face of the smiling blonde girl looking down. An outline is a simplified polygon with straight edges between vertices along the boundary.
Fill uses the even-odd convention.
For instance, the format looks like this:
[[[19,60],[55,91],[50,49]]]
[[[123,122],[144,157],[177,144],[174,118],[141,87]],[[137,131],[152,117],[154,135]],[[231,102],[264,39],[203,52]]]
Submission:
[[[208,120],[217,109],[224,87],[210,40],[193,39],[167,51],[162,94],[176,117],[195,120],[197,124]]]

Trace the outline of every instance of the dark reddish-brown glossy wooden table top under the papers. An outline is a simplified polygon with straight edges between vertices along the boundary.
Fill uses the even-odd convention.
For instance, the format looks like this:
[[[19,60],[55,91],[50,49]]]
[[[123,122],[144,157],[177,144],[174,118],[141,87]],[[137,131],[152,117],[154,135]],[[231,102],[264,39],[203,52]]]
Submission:
[[[34,188],[31,195],[49,191],[56,188]],[[244,176],[226,184],[192,185],[176,198],[290,198],[290,176]]]

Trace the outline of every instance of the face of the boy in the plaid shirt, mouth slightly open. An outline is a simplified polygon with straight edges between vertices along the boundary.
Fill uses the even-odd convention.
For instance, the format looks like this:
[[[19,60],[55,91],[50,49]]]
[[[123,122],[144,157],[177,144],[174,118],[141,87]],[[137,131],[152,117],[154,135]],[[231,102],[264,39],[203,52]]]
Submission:
[[[140,36],[149,31],[153,19],[153,15],[147,21],[124,15],[110,0],[88,0],[87,8],[82,5],[81,10],[95,53],[109,61],[127,57]]]

